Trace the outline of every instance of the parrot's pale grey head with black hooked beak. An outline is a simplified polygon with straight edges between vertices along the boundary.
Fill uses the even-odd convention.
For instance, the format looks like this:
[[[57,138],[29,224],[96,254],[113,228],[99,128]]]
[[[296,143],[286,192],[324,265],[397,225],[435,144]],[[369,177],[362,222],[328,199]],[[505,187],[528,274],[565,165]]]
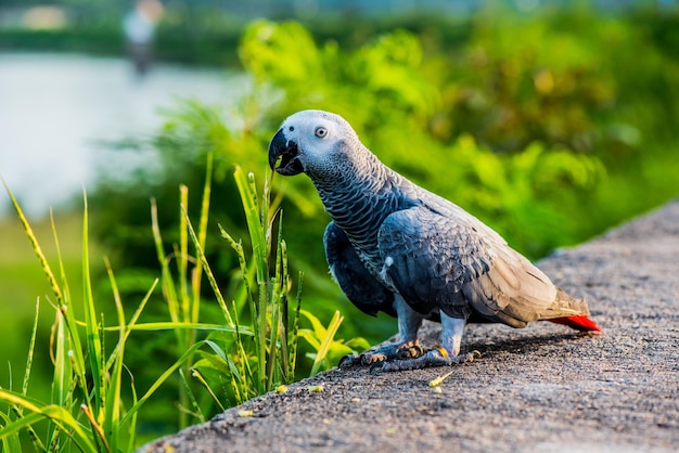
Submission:
[[[353,158],[358,137],[342,118],[323,111],[302,111],[287,117],[269,143],[269,166],[293,176],[332,172]]]

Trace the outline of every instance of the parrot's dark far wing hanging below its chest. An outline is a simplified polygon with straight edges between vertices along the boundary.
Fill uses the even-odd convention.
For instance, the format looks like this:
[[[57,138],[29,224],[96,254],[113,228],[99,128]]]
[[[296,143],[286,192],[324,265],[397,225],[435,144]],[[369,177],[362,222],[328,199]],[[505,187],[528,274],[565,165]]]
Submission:
[[[335,223],[330,222],[325,228],[323,244],[330,272],[351,303],[373,316],[380,311],[396,316],[394,293],[368,272],[346,234]]]

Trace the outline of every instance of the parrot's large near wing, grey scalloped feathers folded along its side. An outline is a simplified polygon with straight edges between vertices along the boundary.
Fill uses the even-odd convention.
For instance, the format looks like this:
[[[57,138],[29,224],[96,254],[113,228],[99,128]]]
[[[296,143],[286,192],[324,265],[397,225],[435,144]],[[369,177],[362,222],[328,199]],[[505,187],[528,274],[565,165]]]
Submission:
[[[440,309],[515,327],[539,319],[554,303],[554,285],[497,235],[479,234],[475,222],[425,206],[388,216],[379,233],[386,275],[422,313]]]

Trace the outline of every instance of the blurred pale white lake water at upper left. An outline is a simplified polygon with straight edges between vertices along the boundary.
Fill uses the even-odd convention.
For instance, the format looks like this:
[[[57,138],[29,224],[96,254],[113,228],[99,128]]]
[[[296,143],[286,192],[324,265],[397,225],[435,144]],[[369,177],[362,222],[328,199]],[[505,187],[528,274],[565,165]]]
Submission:
[[[139,77],[124,59],[0,52],[0,176],[42,217],[91,187],[98,169],[123,176],[148,164],[104,142],[151,135],[179,100],[228,107],[247,87],[245,75],[218,69],[155,64]]]

